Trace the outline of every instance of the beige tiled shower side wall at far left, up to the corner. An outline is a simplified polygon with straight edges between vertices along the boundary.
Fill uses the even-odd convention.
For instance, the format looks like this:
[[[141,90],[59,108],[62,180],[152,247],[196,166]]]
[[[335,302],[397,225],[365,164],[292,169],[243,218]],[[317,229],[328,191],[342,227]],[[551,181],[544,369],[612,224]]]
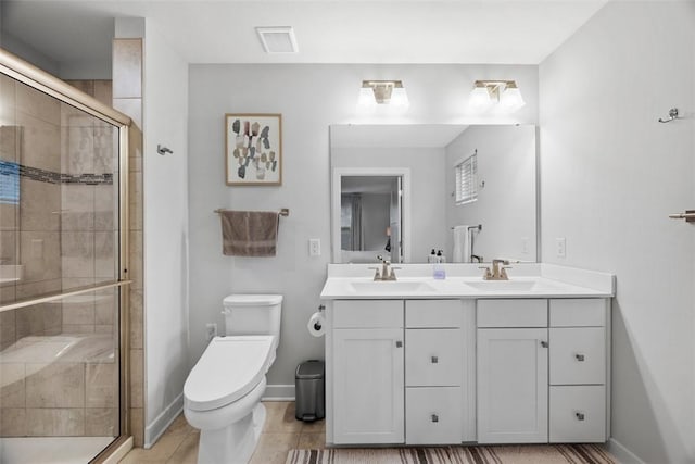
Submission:
[[[0,151],[3,161],[47,172],[61,167],[61,104],[36,90],[1,76],[3,106]],[[23,208],[0,204],[0,262],[23,265],[17,284],[0,285],[2,303],[60,291],[60,184],[23,177]],[[29,335],[61,331],[60,304],[39,304],[0,313],[0,349]]]

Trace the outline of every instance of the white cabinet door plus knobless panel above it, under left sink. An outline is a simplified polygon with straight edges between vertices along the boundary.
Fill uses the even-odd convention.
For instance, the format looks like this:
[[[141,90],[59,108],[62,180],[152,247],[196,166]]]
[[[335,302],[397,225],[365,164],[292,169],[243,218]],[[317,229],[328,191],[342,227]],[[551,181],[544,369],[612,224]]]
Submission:
[[[402,300],[332,302],[336,444],[404,442],[403,306]]]

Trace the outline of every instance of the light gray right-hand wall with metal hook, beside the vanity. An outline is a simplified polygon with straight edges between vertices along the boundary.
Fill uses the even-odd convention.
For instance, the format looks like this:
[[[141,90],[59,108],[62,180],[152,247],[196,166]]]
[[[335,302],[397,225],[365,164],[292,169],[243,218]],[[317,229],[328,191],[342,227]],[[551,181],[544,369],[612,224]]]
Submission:
[[[609,2],[540,66],[543,260],[617,275],[614,446],[648,463],[695,462],[694,33],[692,1]]]

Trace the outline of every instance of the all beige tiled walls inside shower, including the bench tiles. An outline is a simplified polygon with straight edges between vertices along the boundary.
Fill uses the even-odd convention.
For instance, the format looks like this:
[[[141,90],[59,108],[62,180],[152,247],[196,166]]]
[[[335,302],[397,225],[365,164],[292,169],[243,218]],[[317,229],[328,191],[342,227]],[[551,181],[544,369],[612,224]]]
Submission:
[[[1,77],[0,153],[18,163],[22,208],[0,204],[0,259],[23,265],[17,284],[0,286],[3,303],[115,278],[113,192],[116,131],[29,87]],[[76,83],[111,104],[110,81]],[[9,114],[11,110],[13,114]],[[96,174],[99,173],[99,174]],[[114,358],[117,294],[83,294],[0,313],[0,434],[115,436],[118,368]],[[47,340],[31,336],[102,333],[101,355],[58,362],[12,353]],[[104,338],[105,336],[105,338]],[[100,338],[99,338],[100,337]],[[115,339],[117,340],[117,338]],[[103,354],[105,353],[105,355]],[[4,353],[3,353],[4,354]],[[117,351],[115,359],[117,360]],[[14,355],[14,358],[12,358]]]

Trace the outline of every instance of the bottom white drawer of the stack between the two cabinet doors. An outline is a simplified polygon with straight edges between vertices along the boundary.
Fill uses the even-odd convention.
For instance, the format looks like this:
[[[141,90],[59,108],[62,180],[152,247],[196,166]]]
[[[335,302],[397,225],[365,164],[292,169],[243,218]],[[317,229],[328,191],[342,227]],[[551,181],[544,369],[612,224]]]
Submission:
[[[460,387],[406,388],[406,444],[460,443],[463,409]]]

